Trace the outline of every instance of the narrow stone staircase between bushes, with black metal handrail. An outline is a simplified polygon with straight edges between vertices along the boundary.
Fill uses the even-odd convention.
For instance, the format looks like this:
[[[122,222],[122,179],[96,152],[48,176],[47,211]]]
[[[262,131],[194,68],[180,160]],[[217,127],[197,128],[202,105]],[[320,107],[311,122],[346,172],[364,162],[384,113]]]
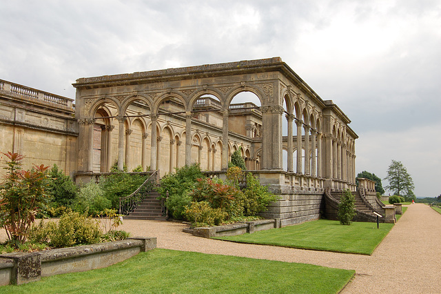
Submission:
[[[143,202],[139,203],[124,219],[167,220],[168,217],[163,217],[161,200],[158,197],[159,193],[152,190]]]

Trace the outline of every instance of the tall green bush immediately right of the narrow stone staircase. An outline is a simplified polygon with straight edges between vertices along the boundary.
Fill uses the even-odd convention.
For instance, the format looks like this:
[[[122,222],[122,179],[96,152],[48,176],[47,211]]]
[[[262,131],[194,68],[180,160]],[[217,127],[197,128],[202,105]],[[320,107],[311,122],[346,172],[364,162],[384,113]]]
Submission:
[[[198,164],[176,168],[174,173],[168,173],[161,179],[158,192],[161,197],[168,199],[165,206],[175,219],[185,219],[185,206],[189,205],[192,197],[189,192],[194,188],[196,179],[205,177]]]

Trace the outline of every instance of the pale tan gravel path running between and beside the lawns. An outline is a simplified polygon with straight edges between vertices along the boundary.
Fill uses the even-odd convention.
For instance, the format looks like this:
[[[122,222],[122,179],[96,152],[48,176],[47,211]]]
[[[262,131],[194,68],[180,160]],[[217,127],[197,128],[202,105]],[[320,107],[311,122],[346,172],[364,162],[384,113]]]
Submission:
[[[157,237],[158,248],[355,269],[342,293],[441,293],[441,215],[424,204],[410,205],[371,256],[224,242],[183,233],[185,227],[127,219],[120,228]]]

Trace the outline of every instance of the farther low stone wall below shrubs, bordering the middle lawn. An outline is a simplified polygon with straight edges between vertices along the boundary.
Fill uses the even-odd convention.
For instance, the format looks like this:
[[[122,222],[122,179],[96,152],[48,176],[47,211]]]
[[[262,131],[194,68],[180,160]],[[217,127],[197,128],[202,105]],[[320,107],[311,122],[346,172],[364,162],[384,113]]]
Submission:
[[[278,228],[276,219],[259,219],[251,222],[227,224],[225,226],[212,226],[209,228],[194,228],[192,233],[198,237],[212,238],[222,236],[236,236],[245,233],[265,231],[270,228]]]

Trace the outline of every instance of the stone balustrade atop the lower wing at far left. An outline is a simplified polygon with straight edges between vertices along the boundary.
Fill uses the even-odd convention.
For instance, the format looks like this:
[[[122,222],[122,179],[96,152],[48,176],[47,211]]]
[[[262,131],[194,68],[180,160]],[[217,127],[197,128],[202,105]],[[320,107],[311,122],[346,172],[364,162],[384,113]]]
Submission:
[[[23,99],[30,99],[30,101],[43,102],[44,104],[53,104],[61,108],[68,108],[74,110],[74,99],[54,95],[49,92],[44,92],[34,88],[29,88],[19,84],[14,84],[9,81],[0,80],[0,90],[11,92],[14,95],[19,95]]]

